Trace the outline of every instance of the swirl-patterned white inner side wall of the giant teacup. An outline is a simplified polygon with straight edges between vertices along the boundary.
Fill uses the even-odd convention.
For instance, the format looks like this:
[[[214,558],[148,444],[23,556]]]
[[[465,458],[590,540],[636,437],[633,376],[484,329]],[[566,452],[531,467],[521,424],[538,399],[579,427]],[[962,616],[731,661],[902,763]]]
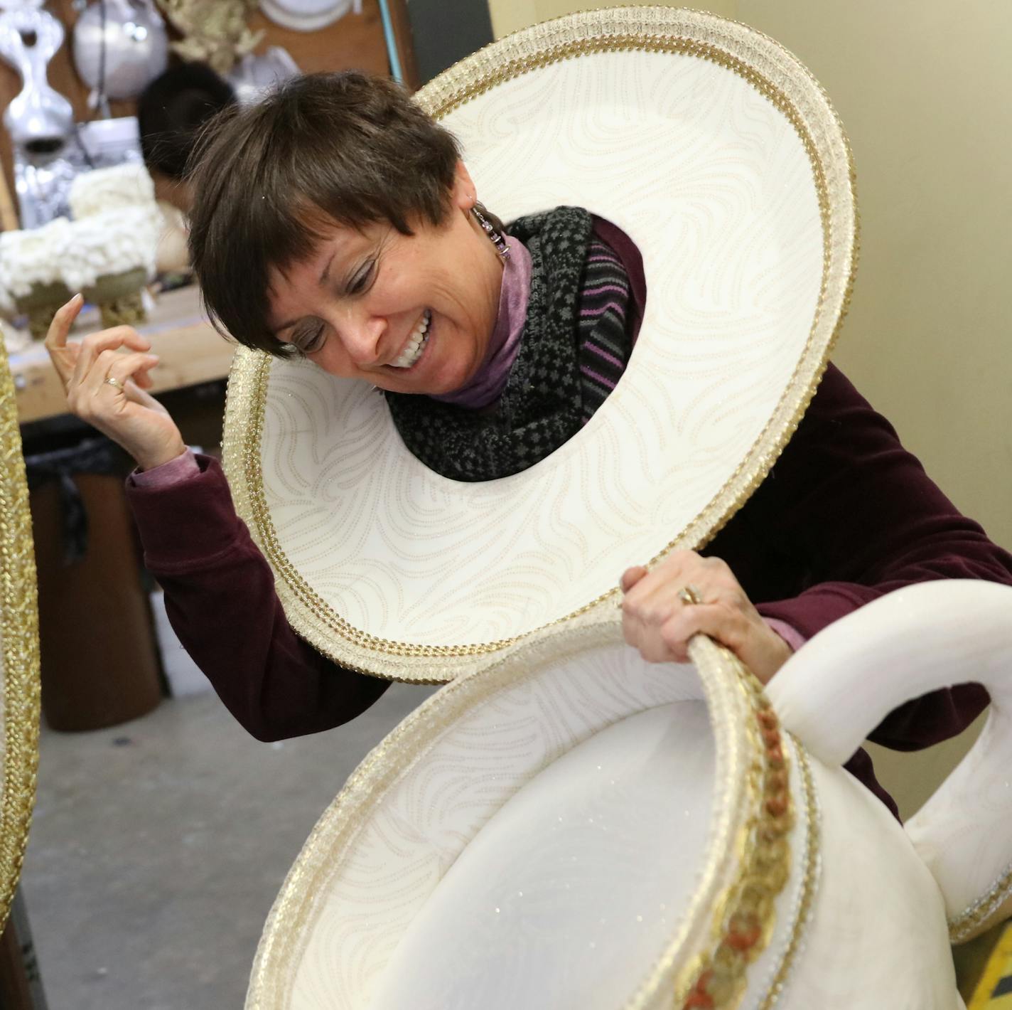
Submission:
[[[518,790],[612,723],[702,696],[693,668],[645,664],[617,643],[530,673],[514,665],[501,684],[496,673],[430,698],[406,720],[424,743],[391,745],[382,762],[391,765],[407,752],[410,764],[353,823],[351,837],[339,845],[308,843],[299,872],[313,881],[311,906],[278,981],[292,1010],[368,1006],[415,917]],[[451,716],[458,695],[477,700]],[[432,733],[430,718],[445,728]],[[352,783],[349,789],[353,801]],[[349,824],[341,798],[333,817],[321,819],[319,835],[340,838]]]

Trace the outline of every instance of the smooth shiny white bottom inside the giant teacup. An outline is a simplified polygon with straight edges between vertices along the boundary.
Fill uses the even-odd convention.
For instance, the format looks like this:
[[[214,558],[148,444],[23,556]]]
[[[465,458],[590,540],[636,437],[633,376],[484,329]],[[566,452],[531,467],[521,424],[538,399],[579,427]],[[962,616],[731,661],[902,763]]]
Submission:
[[[370,1010],[614,1010],[660,956],[701,864],[701,702],[570,751],[478,833],[415,916]]]

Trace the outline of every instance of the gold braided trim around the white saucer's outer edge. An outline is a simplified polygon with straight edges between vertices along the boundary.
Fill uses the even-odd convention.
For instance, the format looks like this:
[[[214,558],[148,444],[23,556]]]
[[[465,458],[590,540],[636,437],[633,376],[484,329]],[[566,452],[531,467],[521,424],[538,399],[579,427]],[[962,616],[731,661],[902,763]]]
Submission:
[[[757,45],[761,41],[761,47]],[[739,49],[736,55],[731,49]],[[761,50],[761,51],[760,51]],[[857,258],[854,170],[843,127],[811,73],[768,36],[698,11],[664,7],[587,11],[523,29],[440,74],[415,96],[436,119],[493,87],[540,67],[595,53],[644,51],[697,57],[748,81],[792,125],[812,165],[823,225],[823,277],[802,359],[759,438],[709,503],[650,561],[708,543],[759,486],[800,422],[846,316]],[[753,62],[749,62],[749,61]],[[760,69],[784,79],[781,87]],[[793,91],[788,93],[785,88]],[[799,106],[804,106],[804,111]],[[270,371],[264,352],[241,348],[229,381],[225,464],[240,516],[278,575],[277,591],[296,630],[341,665],[386,680],[439,683],[477,669],[531,634],[476,644],[420,645],[354,627],[317,594],[285,555],[267,508],[260,439]],[[610,590],[543,627],[572,621],[614,601]],[[539,630],[539,629],[535,629]]]

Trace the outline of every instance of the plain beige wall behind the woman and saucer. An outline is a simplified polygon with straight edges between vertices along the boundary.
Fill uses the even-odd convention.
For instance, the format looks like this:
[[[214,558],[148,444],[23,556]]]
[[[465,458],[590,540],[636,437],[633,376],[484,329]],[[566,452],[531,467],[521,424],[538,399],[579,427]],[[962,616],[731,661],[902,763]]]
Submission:
[[[499,34],[588,6],[606,4],[490,0]],[[1012,548],[1012,3],[709,7],[795,53],[850,136],[861,259],[835,361],[949,497]],[[913,776],[908,807],[936,777],[925,769],[949,763],[886,760],[894,784]]]

